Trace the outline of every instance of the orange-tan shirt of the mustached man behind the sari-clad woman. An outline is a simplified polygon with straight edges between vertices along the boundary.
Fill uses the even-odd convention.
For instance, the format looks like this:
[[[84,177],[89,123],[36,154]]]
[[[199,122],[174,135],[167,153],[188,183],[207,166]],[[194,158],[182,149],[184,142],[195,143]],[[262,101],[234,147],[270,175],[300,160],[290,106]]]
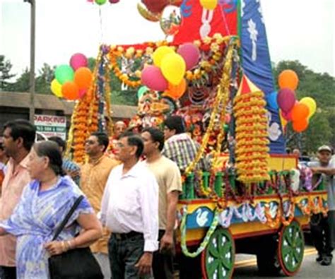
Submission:
[[[113,167],[119,165],[117,160],[113,160],[106,155],[103,155],[95,162],[87,162],[81,167],[81,189],[86,194],[88,201],[95,210],[95,213],[100,212],[101,199],[108,176]],[[110,232],[104,228],[102,237],[97,242],[90,246],[93,253],[108,253],[107,243],[110,237]]]

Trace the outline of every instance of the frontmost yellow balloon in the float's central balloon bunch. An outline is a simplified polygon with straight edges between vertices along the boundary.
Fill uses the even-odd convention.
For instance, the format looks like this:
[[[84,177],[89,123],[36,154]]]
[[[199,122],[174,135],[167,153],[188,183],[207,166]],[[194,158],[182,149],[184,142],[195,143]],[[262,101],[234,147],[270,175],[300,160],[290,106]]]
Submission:
[[[180,54],[173,52],[165,55],[160,69],[167,81],[173,85],[178,85],[182,81],[182,78],[184,78],[186,64]]]

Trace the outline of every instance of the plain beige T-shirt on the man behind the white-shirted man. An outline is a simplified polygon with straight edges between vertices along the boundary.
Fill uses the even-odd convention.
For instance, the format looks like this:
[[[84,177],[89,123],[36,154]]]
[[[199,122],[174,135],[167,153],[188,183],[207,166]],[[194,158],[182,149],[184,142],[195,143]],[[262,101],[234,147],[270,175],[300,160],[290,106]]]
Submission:
[[[158,216],[159,228],[165,230],[167,225],[167,194],[172,191],[182,192],[182,177],[177,164],[165,156],[155,162],[146,162],[155,175],[159,186]]]

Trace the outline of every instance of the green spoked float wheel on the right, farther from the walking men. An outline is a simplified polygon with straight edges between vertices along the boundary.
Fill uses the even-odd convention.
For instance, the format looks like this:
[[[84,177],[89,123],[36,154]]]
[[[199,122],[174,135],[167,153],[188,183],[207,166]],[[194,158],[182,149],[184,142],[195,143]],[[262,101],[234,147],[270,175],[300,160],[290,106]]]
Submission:
[[[300,224],[293,220],[279,235],[278,259],[283,273],[292,276],[298,272],[304,256],[305,240]]]

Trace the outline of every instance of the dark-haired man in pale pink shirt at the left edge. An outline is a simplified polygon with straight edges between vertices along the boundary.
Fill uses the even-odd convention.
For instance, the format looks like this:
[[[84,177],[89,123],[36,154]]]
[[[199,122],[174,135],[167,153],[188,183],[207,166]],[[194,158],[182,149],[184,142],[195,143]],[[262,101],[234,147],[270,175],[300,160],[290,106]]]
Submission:
[[[35,126],[18,119],[4,125],[4,150],[10,157],[0,197],[0,220],[13,213],[23,188],[30,182],[27,170],[28,153],[35,141]],[[0,237],[0,278],[16,278],[16,237]]]

